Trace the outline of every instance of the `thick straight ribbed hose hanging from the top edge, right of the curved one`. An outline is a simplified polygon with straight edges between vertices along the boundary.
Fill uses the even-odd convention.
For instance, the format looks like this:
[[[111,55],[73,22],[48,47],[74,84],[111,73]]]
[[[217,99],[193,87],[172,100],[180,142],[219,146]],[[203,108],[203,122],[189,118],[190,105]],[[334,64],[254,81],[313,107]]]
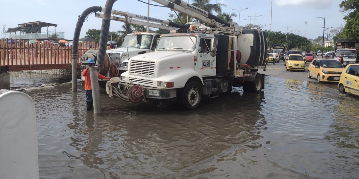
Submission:
[[[110,28],[110,21],[111,21],[111,11],[113,3],[117,0],[107,0],[103,12],[102,18],[102,25],[101,25],[101,34],[100,34],[100,41],[97,50],[97,59],[96,65],[98,69],[103,69],[105,63],[105,56],[106,56],[106,45],[108,39],[108,31]]]

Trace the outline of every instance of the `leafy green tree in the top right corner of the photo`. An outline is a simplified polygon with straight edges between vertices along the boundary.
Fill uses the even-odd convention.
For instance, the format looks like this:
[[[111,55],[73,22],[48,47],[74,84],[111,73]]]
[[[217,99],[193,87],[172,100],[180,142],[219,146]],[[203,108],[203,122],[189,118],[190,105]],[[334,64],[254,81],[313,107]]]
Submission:
[[[342,13],[346,13],[343,18],[346,20],[344,35],[346,38],[359,39],[359,0],[341,1],[339,7]]]

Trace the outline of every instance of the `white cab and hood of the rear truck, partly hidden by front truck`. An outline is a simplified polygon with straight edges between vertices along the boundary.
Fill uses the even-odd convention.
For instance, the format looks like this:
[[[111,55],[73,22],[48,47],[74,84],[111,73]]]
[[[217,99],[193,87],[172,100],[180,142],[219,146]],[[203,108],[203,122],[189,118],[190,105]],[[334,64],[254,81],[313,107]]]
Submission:
[[[131,57],[155,51],[160,35],[143,32],[127,34],[120,47],[107,50],[106,53],[120,71],[127,71]]]

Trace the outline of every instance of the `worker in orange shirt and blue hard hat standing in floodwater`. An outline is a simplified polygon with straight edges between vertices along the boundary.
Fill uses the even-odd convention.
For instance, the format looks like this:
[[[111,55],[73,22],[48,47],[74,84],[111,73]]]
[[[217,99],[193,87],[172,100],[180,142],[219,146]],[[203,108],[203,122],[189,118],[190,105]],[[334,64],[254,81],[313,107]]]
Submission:
[[[82,76],[85,77],[85,92],[86,92],[86,110],[91,111],[93,108],[92,101],[92,88],[91,88],[91,79],[90,79],[90,71],[89,67],[95,66],[95,61],[92,58],[87,60],[88,67],[84,69],[82,72]],[[108,77],[103,76],[102,74],[97,73],[99,79],[110,79]]]

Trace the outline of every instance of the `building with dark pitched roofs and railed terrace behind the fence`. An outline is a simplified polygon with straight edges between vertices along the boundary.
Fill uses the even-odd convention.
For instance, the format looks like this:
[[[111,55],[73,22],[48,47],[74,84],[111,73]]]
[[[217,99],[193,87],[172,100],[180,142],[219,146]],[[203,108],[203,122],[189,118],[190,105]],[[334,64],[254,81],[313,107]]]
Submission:
[[[54,31],[48,31],[49,27],[54,27]],[[41,28],[46,27],[46,32]],[[5,38],[23,40],[60,40],[65,38],[64,32],[56,32],[57,24],[45,23],[41,21],[18,24],[18,27],[9,28],[5,33]]]

